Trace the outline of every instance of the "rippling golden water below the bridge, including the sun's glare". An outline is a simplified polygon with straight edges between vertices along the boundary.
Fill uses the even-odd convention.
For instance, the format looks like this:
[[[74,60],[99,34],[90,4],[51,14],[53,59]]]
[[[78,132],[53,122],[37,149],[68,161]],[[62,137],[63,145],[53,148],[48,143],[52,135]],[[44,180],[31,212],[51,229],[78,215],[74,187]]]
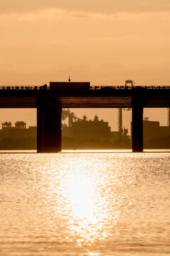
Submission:
[[[170,255],[170,154],[1,154],[0,255]]]

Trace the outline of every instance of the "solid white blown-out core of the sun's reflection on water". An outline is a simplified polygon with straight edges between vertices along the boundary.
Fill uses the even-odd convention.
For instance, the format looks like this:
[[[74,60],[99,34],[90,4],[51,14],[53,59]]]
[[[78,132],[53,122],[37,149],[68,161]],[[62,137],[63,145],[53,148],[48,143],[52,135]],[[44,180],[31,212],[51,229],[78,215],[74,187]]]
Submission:
[[[68,228],[77,245],[108,238],[108,210],[106,198],[98,191],[94,178],[84,172],[68,174],[67,194]],[[115,221],[117,216],[115,215]]]

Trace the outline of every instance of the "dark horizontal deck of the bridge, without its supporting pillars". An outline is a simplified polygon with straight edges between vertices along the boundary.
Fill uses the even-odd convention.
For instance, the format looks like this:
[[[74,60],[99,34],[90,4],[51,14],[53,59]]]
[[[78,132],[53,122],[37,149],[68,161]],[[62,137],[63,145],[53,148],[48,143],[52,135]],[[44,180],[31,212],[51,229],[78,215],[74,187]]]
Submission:
[[[60,107],[132,107],[132,97],[144,107],[170,107],[170,90],[0,90],[1,108],[36,108],[38,99],[50,98]]]

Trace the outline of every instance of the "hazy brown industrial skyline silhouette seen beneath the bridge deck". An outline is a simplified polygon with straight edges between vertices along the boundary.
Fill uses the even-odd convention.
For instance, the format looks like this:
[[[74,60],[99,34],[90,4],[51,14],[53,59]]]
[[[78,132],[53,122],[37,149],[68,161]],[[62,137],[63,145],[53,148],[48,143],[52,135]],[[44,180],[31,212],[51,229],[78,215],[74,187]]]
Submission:
[[[94,119],[88,120],[86,115],[81,119],[69,109],[62,111],[62,120],[66,118],[72,122],[62,124],[62,149],[131,149],[131,138],[128,130],[111,132],[108,122]],[[66,120],[68,121],[68,120]],[[0,129],[0,149],[37,149],[37,127],[26,128],[24,125],[12,126],[11,122],[2,123]],[[4,125],[6,124],[6,125]],[[143,120],[143,144],[145,149],[169,149],[170,128],[160,126],[157,121]]]

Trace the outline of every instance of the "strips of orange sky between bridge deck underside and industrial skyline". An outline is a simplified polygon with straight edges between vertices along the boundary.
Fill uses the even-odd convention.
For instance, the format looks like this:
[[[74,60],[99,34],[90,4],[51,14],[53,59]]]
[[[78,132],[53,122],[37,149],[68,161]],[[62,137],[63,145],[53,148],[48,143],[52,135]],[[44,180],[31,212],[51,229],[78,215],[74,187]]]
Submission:
[[[70,109],[77,117],[83,118],[86,114],[88,119],[94,119],[95,114],[98,114],[99,119],[104,119],[111,126],[112,131],[118,130],[118,109],[116,108],[103,108],[103,109]],[[159,112],[159,114],[158,114]],[[160,125],[167,125],[167,109],[144,109],[144,118],[149,117],[150,121],[159,121]],[[123,127],[129,129],[132,119],[132,112],[123,112]],[[27,127],[37,126],[37,112],[35,109],[0,109],[0,124],[2,122],[11,121],[13,124],[22,120],[26,122]],[[1,127],[0,127],[1,129]]]

